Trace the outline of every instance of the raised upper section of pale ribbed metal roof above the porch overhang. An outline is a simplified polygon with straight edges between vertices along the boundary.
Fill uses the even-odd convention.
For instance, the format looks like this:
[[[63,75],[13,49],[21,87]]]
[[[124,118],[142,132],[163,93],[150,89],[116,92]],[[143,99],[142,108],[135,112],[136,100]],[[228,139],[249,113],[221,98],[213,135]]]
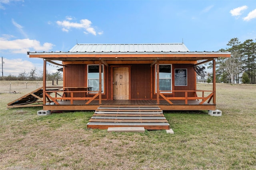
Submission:
[[[183,43],[161,44],[76,44],[69,52],[134,53],[134,52],[188,52]]]

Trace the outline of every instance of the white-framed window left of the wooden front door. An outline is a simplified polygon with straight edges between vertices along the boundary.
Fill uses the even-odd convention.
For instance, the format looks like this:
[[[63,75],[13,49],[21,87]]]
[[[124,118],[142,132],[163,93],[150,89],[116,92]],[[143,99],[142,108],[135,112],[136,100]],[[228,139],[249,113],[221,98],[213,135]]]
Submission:
[[[101,90],[102,93],[104,93],[104,70],[103,66],[101,66]],[[98,91],[99,90],[99,65],[88,65],[87,67],[87,84],[88,87],[92,87],[92,91]]]

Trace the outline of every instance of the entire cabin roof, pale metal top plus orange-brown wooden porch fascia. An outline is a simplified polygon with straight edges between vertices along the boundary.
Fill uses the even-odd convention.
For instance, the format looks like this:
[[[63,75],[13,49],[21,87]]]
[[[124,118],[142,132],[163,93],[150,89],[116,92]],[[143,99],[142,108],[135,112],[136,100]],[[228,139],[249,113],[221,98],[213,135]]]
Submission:
[[[56,61],[108,60],[204,60],[230,57],[229,52],[190,52],[183,43],[76,44],[68,52],[28,52],[30,58]]]

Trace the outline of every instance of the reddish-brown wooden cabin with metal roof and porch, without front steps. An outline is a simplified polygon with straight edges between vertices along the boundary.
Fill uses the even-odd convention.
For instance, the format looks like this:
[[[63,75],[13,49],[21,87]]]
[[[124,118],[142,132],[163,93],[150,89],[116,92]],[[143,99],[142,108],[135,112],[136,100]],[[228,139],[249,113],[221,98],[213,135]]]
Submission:
[[[190,52],[183,43],[76,44],[68,52],[28,55],[44,61],[44,110],[95,110],[99,105],[216,109],[215,59],[230,57],[229,52]],[[194,68],[210,61],[212,90],[196,89]],[[46,87],[46,62],[63,66],[63,87],[50,91],[55,95]]]

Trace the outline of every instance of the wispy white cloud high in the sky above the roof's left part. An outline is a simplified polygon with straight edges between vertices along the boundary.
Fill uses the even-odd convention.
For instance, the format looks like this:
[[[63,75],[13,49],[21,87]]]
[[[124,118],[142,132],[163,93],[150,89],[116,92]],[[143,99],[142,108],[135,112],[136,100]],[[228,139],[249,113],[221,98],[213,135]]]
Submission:
[[[92,35],[97,35],[94,27],[92,27],[92,22],[87,19],[80,20],[80,23],[77,22],[71,22],[73,20],[73,17],[67,16],[66,20],[64,21],[56,21],[58,25],[62,27],[62,31],[68,32],[71,28],[76,29],[85,29],[84,33],[88,34],[91,33]],[[103,32],[100,32],[98,34],[102,34]]]

